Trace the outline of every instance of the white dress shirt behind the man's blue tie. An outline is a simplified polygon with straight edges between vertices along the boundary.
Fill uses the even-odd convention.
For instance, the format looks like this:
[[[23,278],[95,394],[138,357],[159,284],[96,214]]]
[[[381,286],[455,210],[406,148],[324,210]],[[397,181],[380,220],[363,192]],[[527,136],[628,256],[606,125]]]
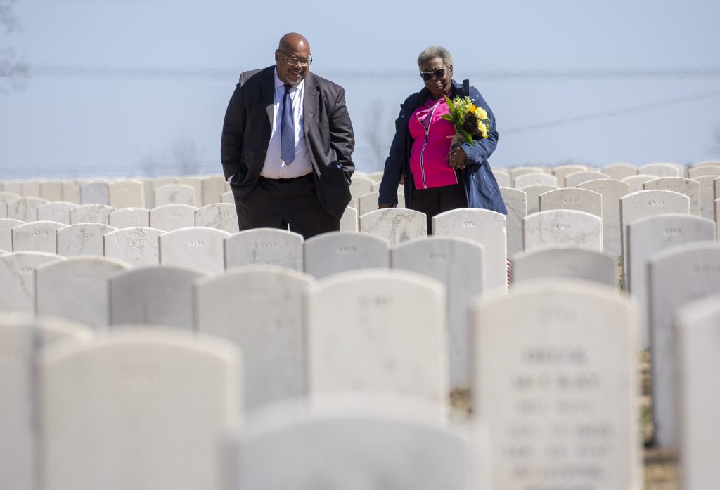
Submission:
[[[292,101],[292,121],[295,126],[295,160],[290,165],[280,157],[280,139],[282,132],[282,99],[285,96],[285,83],[277,76],[275,68],[275,104],[270,143],[265,154],[265,164],[260,175],[270,179],[290,179],[302,177],[312,172],[312,162],[305,147],[305,131],[302,129],[302,102],[305,95],[305,80],[290,89]]]

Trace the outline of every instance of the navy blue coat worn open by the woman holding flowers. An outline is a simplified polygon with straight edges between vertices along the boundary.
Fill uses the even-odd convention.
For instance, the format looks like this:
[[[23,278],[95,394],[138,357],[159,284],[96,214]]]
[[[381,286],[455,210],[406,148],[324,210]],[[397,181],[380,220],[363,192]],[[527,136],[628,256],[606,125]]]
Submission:
[[[495,129],[495,116],[485,99],[482,98],[477,88],[469,85],[468,80],[460,85],[452,80],[450,98],[455,96],[469,96],[472,103],[487,111],[490,118],[490,131],[487,138],[475,139],[475,144],[464,143],[460,147],[467,154],[466,167],[462,170],[462,182],[467,197],[469,208],[489,209],[498,213],[508,214],[505,208],[503,196],[500,194],[498,181],[487,163],[488,157],[498,146],[498,130]],[[400,176],[405,184],[405,208],[413,209],[413,190],[415,182],[410,172],[410,151],[413,147],[413,138],[408,131],[408,119],[413,115],[415,109],[428,100],[430,91],[423,88],[418,93],[413,93],[405,99],[400,106],[400,116],[395,120],[395,137],[390,145],[390,154],[385,160],[385,170],[380,183],[379,204],[397,204],[397,185],[400,183]]]

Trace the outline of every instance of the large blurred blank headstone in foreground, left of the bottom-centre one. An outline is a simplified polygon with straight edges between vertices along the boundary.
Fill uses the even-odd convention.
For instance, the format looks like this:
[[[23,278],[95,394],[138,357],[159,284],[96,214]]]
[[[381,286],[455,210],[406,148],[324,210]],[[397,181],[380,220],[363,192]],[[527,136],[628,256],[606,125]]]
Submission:
[[[216,489],[240,353],[182,330],[113,330],[40,360],[46,490]]]

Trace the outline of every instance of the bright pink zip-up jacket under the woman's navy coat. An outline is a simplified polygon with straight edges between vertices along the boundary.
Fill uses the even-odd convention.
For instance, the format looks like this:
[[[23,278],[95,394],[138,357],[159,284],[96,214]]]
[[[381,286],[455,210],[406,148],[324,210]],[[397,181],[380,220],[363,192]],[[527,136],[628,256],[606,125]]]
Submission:
[[[408,120],[408,131],[414,140],[410,153],[410,172],[413,172],[417,189],[458,183],[455,170],[451,169],[447,161],[455,129],[451,122],[441,117],[449,112],[444,97],[439,101],[428,98]]]

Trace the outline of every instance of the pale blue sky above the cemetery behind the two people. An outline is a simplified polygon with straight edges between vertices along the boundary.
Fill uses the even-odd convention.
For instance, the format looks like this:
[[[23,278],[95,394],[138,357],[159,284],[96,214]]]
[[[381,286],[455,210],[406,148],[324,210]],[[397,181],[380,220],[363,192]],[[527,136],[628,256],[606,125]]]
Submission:
[[[220,172],[237,77],[271,65],[290,31],[310,40],[311,70],[346,88],[359,170],[382,168],[366,135],[380,128],[389,144],[428,45],[447,47],[495,112],[493,166],[720,157],[720,2],[448,5],[18,0],[22,32],[0,47],[33,74],[0,95],[0,178],[168,174],[182,149]]]

